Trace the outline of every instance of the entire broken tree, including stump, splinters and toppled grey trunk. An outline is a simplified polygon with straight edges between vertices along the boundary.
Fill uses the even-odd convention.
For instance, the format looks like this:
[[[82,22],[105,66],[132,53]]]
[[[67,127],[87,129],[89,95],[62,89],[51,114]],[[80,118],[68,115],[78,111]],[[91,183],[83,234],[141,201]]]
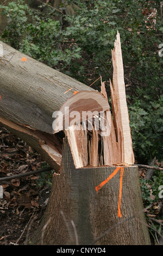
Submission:
[[[97,92],[3,48],[1,125],[55,170],[45,216],[29,243],[149,245],[138,168],[132,166],[120,34],[112,50],[112,114],[104,82]]]

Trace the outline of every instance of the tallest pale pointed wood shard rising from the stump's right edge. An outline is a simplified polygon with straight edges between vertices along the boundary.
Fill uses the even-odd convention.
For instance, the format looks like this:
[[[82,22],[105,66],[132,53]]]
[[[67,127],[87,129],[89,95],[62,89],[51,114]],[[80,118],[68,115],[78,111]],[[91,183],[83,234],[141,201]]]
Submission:
[[[123,60],[121,51],[120,34],[117,32],[117,39],[114,50],[111,51],[113,72],[113,85],[111,86],[112,108],[114,109],[114,124],[117,136],[118,147],[121,154],[121,162],[133,164],[134,153],[131,140],[129,114],[126,102],[126,91],[124,84]]]

